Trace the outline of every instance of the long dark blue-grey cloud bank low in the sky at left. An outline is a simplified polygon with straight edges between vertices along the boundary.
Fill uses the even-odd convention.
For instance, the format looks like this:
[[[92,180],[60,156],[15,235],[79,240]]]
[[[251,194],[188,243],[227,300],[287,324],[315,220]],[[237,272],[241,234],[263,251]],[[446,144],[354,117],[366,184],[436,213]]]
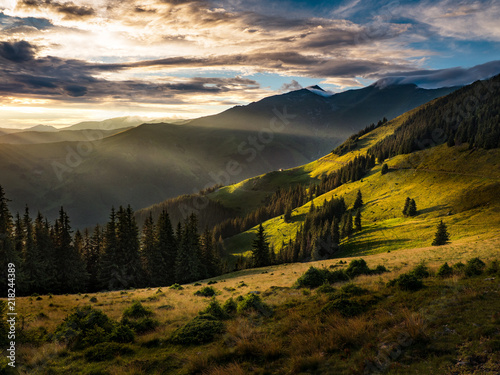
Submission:
[[[124,67],[92,64],[57,57],[36,58],[36,48],[28,42],[0,44],[0,95],[92,102],[105,98],[116,101],[181,103],[183,95],[224,93],[238,89],[258,89],[246,78],[194,77],[179,82],[141,80],[110,81],[97,78],[105,70]]]

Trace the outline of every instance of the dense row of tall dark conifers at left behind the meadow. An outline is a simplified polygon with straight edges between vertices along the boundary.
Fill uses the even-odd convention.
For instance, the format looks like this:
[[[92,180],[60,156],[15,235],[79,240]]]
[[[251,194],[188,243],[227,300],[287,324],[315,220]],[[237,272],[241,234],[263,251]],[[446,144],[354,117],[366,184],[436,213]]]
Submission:
[[[165,286],[226,271],[223,244],[209,230],[198,233],[191,214],[176,229],[166,211],[139,230],[130,206],[111,210],[104,227],[73,232],[63,208],[54,223],[26,208],[13,217],[0,186],[0,259],[6,290],[7,264],[16,265],[18,295],[76,293]]]

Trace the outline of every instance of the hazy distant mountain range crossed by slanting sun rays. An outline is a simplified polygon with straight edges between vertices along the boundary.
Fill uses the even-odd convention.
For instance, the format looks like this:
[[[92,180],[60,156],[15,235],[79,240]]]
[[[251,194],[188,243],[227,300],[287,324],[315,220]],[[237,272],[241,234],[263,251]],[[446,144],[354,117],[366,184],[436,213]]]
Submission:
[[[454,90],[372,85],[324,95],[315,87],[183,125],[122,118],[4,135],[0,139],[18,144],[0,144],[1,184],[14,212],[28,204],[54,217],[64,206],[75,227],[91,226],[106,220],[112,205],[146,207],[305,164],[372,122]]]

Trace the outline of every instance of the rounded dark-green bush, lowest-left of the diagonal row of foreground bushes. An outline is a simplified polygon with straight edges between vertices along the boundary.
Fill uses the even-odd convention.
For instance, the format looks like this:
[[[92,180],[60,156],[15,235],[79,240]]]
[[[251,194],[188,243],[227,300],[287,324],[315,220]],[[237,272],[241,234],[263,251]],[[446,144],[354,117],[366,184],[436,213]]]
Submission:
[[[175,330],[171,342],[181,345],[200,345],[213,341],[222,333],[224,324],[211,315],[199,315]]]

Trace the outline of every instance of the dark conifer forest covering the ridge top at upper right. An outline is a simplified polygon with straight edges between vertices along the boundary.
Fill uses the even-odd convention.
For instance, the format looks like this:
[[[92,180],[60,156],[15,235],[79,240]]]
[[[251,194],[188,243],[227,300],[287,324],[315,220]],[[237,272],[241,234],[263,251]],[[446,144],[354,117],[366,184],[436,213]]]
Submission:
[[[379,163],[446,143],[469,148],[500,147],[500,75],[478,81],[435,100],[410,116],[368,150]]]

